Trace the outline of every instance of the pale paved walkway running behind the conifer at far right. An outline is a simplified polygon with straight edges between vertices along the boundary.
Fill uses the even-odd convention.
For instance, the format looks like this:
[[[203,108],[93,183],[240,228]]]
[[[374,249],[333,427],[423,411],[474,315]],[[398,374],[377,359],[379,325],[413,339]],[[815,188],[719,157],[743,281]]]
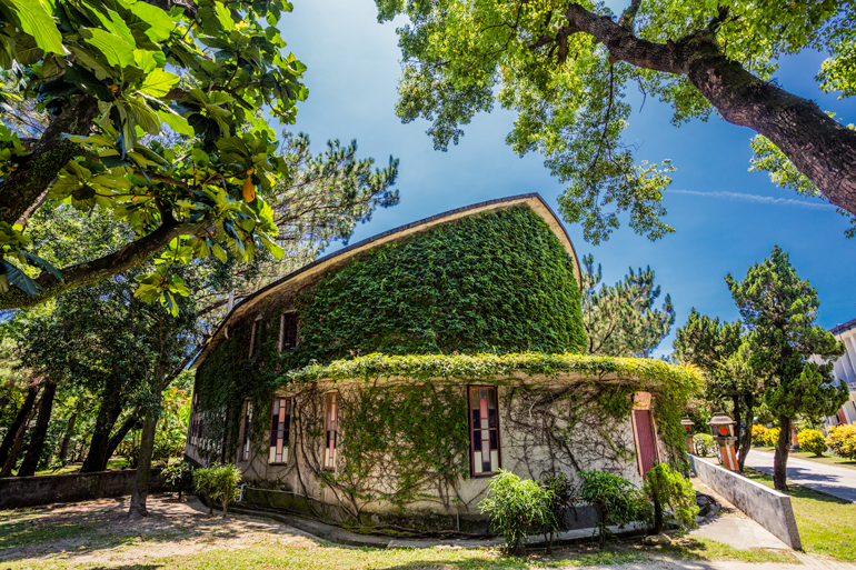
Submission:
[[[746,458],[746,467],[773,474],[773,457],[766,451],[752,450]],[[788,481],[856,502],[856,469],[788,457]]]

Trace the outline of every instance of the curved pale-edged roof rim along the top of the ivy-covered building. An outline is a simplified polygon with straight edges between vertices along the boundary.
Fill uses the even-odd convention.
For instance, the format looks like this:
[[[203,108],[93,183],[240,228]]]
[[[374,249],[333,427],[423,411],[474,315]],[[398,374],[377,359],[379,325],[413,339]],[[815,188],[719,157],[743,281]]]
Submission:
[[[470,206],[465,206],[464,208],[457,208],[455,210],[438,213],[437,216],[431,216],[430,218],[425,218],[422,220],[418,220],[406,226],[400,226],[389,231],[385,231],[384,233],[378,233],[377,236],[372,236],[371,238],[358,241],[357,243],[348,246],[347,248],[342,248],[330,254],[318,258],[317,260],[307,266],[303,266],[297,271],[293,271],[286,277],[273,281],[269,286],[259,289],[232,308],[232,310],[222,320],[220,326],[217,328],[217,331],[215,331],[215,333],[211,336],[211,339],[208,341],[206,348],[199,353],[190,368],[198,368],[205,361],[208,354],[222,340],[225,334],[223,331],[230,322],[235,321],[240,316],[250,312],[253,306],[258,304],[259,301],[269,297],[275,291],[280,291],[283,289],[299,289],[299,287],[307,281],[318,279],[325,272],[345,266],[355,256],[358,256],[359,253],[369,249],[395,243],[396,241],[400,241],[401,239],[405,239],[409,236],[421,233],[434,227],[441,226],[460,218],[466,218],[468,216],[474,216],[491,210],[511,208],[514,206],[529,207],[547,223],[556,237],[559,238],[559,241],[565,247],[565,250],[574,260],[574,278],[577,280],[577,284],[579,286],[583,280],[579,259],[577,258],[577,251],[574,249],[574,243],[571,243],[570,237],[568,236],[568,232],[565,231],[565,227],[559,221],[556,212],[553,211],[553,209],[547,204],[540,194],[532,192],[528,194],[517,194],[510,196],[508,198],[499,198],[497,200],[488,200],[486,202],[478,202]]]

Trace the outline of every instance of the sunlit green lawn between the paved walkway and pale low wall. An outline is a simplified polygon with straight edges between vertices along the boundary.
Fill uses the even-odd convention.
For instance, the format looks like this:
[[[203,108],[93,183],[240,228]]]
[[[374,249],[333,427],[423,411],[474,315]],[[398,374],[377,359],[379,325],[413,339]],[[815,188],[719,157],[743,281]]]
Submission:
[[[773,478],[760,471],[746,469],[744,474],[773,487]],[[792,482],[788,482],[788,488],[803,550],[839,560],[856,560],[856,503]]]

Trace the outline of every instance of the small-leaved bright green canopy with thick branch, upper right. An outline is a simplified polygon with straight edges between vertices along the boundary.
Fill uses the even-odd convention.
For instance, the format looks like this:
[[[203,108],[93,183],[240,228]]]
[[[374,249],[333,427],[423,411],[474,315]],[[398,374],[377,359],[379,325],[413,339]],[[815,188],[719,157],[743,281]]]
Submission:
[[[507,141],[538,150],[568,187],[565,219],[587,240],[606,239],[629,213],[638,233],[661,221],[673,167],[637,162],[623,143],[638,87],[674,108],[674,124],[719,114],[749,127],[830,203],[856,213],[856,131],[779,88],[776,59],[825,50],[824,91],[856,92],[856,3],[628,0],[620,17],[593,1],[376,0],[380,21],[406,14],[397,112],[424,118],[435,148],[457,143],[495,100],[517,112]]]

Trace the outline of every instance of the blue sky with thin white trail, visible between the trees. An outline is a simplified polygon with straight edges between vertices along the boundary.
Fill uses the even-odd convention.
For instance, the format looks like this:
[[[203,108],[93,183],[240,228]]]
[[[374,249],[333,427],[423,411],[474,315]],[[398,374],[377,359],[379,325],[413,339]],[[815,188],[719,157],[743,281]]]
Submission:
[[[320,152],[327,139],[357,139],[360,157],[379,166],[390,154],[400,159],[400,204],[378,211],[357,228],[357,241],[452,208],[495,198],[538,192],[557,209],[563,184],[549,176],[540,154],[517,157],[505,144],[514,114],[501,109],[476,117],[460,144],[434,150],[428,124],[402,124],[395,116],[400,52],[395,24],[379,24],[371,0],[296,0],[280,20],[282,37],[308,66],[309,98],[300,104],[293,130],[307,132]],[[609,2],[610,6],[614,2]],[[620,4],[614,7],[619,10]],[[838,101],[814,81],[823,56],[805,53],[783,62],[782,87],[815,99],[823,109],[856,121],[856,100]],[[614,283],[628,267],[650,266],[671,294],[676,326],[690,308],[735,320],[739,316],[725,284],[769,256],[775,244],[790,254],[803,279],[820,297],[819,324],[829,328],[856,318],[856,241],[846,240],[846,220],[832,208],[774,187],[766,174],[748,172],[749,129],[711,118],[679,129],[669,124],[670,109],[629,90],[634,104],[625,139],[639,144],[637,160],[673,160],[677,171],[667,192],[667,223],[677,231],[650,242],[626,226],[605,243],[583,240],[579,227],[566,224],[580,256],[594,253],[604,280]],[[331,247],[336,249],[339,246]],[[657,354],[670,353],[671,334]]]

